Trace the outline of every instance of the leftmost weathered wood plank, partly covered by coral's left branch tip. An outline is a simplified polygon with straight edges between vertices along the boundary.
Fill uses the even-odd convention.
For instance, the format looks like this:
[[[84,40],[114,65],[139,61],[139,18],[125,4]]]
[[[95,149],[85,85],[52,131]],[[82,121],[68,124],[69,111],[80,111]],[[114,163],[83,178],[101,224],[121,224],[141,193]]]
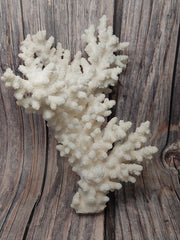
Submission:
[[[0,2],[1,74],[7,66],[17,73],[17,54],[23,40],[21,13],[20,1]],[[37,116],[24,114],[12,91],[3,84],[0,108],[0,238],[20,239],[41,193],[43,174],[39,175],[39,171],[44,172],[46,151],[44,124]]]

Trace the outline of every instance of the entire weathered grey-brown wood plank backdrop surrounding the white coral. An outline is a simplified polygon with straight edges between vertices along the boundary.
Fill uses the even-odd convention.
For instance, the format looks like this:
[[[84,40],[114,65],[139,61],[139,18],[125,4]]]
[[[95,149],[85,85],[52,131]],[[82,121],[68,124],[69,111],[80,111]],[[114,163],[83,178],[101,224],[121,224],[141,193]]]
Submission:
[[[25,114],[1,83],[1,240],[180,239],[179,0],[0,0],[0,75],[7,67],[18,74],[28,33],[46,29],[74,54],[103,14],[130,42],[128,67],[110,96],[117,100],[113,115],[134,127],[150,120],[159,152],[135,185],[110,194],[103,213],[75,214],[78,177],[41,116]]]

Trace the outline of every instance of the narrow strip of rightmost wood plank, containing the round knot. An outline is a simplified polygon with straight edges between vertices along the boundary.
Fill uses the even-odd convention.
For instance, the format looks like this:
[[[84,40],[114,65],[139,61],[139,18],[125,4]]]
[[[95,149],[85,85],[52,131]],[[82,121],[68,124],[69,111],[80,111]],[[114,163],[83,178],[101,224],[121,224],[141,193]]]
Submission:
[[[179,36],[178,36],[179,37]],[[179,42],[179,39],[178,39]],[[166,218],[176,226],[177,219],[180,219],[180,49],[177,48],[176,62],[174,66],[174,75],[172,82],[172,98],[171,98],[171,112],[169,133],[167,138],[166,148],[163,151],[163,165],[171,175],[172,191],[174,192],[174,199],[169,201],[170,214],[166,213]],[[175,217],[174,217],[175,216]],[[180,227],[179,227],[180,228]],[[173,238],[173,229],[170,228],[171,236]],[[178,235],[179,238],[179,235]]]

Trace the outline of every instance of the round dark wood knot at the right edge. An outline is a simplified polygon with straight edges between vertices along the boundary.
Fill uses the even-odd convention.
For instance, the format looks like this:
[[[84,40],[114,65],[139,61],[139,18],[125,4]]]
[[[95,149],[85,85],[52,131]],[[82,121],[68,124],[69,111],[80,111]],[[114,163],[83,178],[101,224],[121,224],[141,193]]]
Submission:
[[[168,167],[180,170],[180,141],[171,144],[164,150],[163,161]]]

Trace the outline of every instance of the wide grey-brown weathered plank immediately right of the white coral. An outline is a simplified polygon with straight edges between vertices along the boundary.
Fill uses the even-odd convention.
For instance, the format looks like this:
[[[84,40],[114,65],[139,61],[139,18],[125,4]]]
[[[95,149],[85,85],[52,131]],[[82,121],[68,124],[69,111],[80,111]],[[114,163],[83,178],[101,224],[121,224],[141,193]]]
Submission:
[[[118,240],[179,239],[178,176],[173,176],[174,184],[173,174],[162,165],[161,152],[169,130],[180,3],[129,0],[116,1],[116,5],[115,32],[130,46],[128,68],[113,93],[115,113],[135,125],[150,120],[151,142],[159,147],[159,153],[144,166],[135,185],[126,184],[115,193],[105,216],[106,225],[114,226],[115,234],[106,228],[106,235]],[[179,117],[175,119],[178,125]]]

